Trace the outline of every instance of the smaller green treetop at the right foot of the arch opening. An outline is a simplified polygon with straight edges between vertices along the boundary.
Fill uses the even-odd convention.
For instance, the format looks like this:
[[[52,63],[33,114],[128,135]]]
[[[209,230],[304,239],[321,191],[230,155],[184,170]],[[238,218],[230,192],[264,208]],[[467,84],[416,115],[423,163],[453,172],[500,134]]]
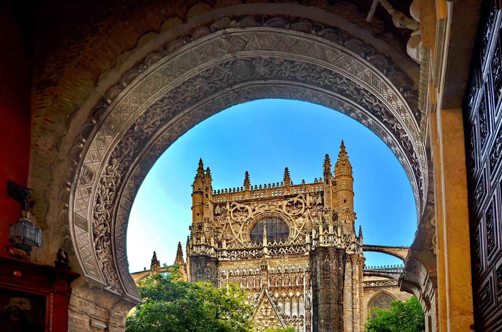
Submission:
[[[364,325],[366,332],[422,332],[425,330],[425,318],[422,306],[413,296],[406,301],[391,302],[391,309],[373,307],[369,319]]]

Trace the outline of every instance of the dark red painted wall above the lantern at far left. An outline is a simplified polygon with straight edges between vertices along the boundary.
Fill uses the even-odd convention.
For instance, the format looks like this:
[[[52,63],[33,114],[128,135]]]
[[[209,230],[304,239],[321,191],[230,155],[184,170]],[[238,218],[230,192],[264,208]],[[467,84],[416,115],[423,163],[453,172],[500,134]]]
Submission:
[[[0,1],[0,255],[9,244],[9,224],[21,204],[7,194],[7,182],[28,181],[33,20],[22,2]],[[30,6],[28,6],[30,7]]]

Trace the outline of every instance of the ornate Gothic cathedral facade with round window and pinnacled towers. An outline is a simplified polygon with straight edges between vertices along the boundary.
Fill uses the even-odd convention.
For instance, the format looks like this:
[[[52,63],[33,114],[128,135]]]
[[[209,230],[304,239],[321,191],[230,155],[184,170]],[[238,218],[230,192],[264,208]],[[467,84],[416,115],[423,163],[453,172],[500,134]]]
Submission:
[[[343,141],[333,172],[326,154],[322,177],[309,184],[294,185],[286,168],[281,183],[252,186],[246,172],[242,187],[213,190],[200,160],[189,280],[247,290],[260,329],[362,331],[373,305],[389,307],[410,294],[398,290],[399,268],[364,270],[352,182]]]

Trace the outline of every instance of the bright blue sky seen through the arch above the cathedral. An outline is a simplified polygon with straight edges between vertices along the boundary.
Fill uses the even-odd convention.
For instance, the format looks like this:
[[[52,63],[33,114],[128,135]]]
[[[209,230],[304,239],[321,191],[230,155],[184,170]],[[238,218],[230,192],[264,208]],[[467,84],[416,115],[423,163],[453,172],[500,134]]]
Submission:
[[[417,230],[410,183],[387,145],[357,121],[329,108],[266,99],[230,107],[196,125],[157,160],[131,210],[127,235],[130,271],[150,268],[153,251],[172,264],[178,241],[185,250],[191,224],[192,183],[199,158],[211,170],[213,189],[322,176],[324,155],[334,165],[343,139],[352,164],[356,228],[363,243],[409,246]],[[186,253],[184,252],[184,255]],[[365,252],[366,265],[401,264]]]

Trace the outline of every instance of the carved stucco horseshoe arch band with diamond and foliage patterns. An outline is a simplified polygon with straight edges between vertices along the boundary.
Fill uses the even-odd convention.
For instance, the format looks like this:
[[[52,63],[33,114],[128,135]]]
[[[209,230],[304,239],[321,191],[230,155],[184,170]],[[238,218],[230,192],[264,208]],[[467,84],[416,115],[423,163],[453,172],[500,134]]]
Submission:
[[[195,124],[257,99],[309,101],[368,127],[403,165],[422,210],[427,165],[417,121],[398,88],[349,50],[301,32],[256,27],[219,31],[156,56],[113,102],[96,108],[82,129],[88,138],[76,140],[68,219],[85,277],[139,300],[126,230],[143,179]]]

